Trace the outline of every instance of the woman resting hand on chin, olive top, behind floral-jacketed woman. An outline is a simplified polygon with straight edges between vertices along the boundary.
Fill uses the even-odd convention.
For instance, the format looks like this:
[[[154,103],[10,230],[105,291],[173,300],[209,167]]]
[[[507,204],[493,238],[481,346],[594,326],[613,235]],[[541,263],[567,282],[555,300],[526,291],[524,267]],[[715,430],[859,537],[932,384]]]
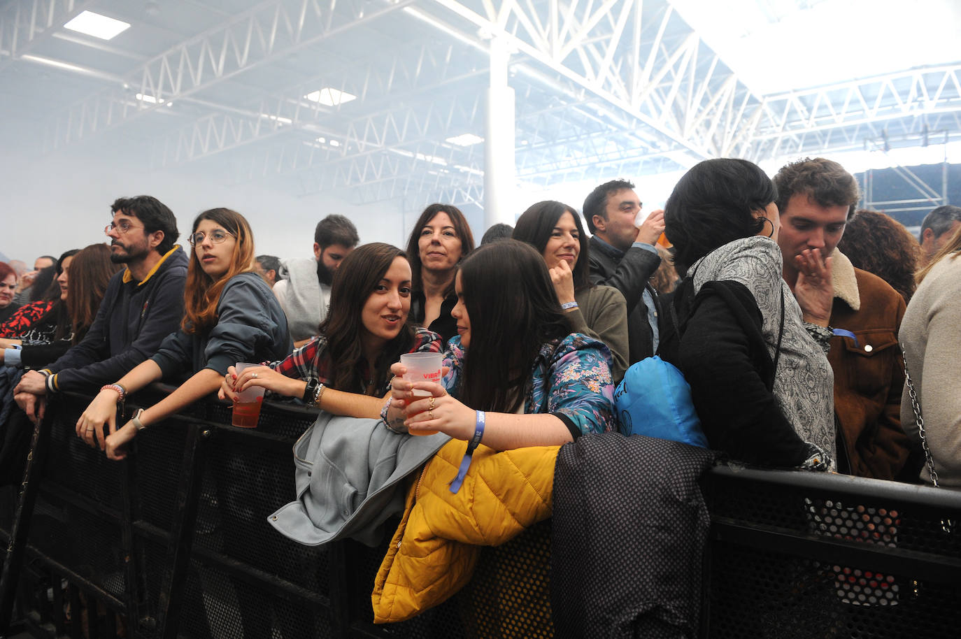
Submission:
[[[621,291],[588,279],[590,244],[578,212],[560,202],[538,202],[517,219],[513,237],[541,254],[572,329],[607,345],[614,382],[621,381],[628,369],[628,304]]]

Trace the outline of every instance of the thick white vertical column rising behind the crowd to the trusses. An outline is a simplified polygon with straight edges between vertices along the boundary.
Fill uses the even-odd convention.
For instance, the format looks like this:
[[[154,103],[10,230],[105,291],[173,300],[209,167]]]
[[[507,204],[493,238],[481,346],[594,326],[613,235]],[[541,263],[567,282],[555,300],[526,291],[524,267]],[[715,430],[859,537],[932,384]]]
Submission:
[[[484,119],[483,217],[484,228],[514,224],[514,89],[507,86],[510,58],[504,37],[490,42],[490,87]]]

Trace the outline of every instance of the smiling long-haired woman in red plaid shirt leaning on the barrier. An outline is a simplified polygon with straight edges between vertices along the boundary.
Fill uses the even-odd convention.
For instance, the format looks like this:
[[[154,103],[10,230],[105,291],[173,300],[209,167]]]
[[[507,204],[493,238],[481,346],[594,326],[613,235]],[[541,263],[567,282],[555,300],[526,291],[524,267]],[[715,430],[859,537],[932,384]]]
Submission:
[[[333,276],[331,309],[317,337],[270,366],[229,368],[220,397],[233,401],[259,386],[335,415],[378,417],[390,365],[402,354],[439,354],[443,347],[436,333],[407,324],[410,281],[410,264],[397,247],[357,247]]]

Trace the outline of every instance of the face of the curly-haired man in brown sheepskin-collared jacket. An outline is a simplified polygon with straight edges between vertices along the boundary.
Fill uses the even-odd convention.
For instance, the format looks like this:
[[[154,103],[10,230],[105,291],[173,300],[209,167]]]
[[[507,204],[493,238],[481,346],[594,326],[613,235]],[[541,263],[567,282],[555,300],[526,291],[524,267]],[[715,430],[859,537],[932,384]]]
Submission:
[[[822,258],[834,252],[848,224],[848,207],[822,207],[806,193],[795,193],[780,211],[780,223],[777,246],[784,256],[784,273],[797,276],[794,258],[805,249],[821,249]]]

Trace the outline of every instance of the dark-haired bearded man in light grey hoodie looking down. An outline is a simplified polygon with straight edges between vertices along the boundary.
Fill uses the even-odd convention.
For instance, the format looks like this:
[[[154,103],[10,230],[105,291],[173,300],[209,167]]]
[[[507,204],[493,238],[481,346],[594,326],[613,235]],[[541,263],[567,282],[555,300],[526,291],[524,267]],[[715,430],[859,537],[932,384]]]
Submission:
[[[274,295],[287,315],[287,327],[295,347],[307,344],[327,317],[331,305],[333,272],[360,242],[357,228],[343,215],[328,215],[313,232],[313,260],[287,258],[281,261]]]

